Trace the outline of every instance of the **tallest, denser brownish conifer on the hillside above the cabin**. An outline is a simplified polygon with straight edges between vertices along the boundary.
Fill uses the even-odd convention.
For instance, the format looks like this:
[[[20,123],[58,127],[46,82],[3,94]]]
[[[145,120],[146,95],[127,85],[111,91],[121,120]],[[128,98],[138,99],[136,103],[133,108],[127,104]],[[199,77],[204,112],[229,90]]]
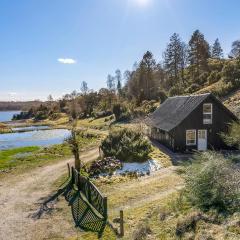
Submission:
[[[196,30],[189,41],[188,59],[191,65],[192,77],[198,80],[202,72],[208,71],[210,47],[204,35]]]

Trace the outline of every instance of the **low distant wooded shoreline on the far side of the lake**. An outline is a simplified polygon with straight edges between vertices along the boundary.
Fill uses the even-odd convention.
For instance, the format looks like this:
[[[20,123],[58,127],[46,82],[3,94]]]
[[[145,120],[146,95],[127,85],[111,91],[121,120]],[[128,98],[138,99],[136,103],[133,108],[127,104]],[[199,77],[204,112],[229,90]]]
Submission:
[[[0,102],[0,111],[28,111],[32,107],[39,107],[42,102]]]

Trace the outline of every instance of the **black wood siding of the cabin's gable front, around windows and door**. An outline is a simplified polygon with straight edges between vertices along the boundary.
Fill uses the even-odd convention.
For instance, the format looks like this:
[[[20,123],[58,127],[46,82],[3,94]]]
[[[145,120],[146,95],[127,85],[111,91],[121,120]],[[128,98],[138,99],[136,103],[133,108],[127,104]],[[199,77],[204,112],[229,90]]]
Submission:
[[[213,106],[212,124],[203,124],[203,104],[211,103]],[[227,132],[229,123],[234,119],[234,116],[227,111],[224,106],[213,97],[209,96],[205,99],[192,113],[182,121],[171,134],[175,138],[175,150],[185,151],[197,149],[198,144],[198,130],[207,130],[208,149],[226,149],[220,137],[221,132]],[[196,130],[196,145],[186,146],[186,130]]]

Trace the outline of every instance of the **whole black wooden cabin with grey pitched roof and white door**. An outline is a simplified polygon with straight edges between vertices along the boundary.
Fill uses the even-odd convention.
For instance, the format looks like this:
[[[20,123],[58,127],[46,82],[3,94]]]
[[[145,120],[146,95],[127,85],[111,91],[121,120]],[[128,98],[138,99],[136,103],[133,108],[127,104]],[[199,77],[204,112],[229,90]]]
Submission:
[[[227,149],[220,133],[238,118],[214,95],[168,98],[146,119],[148,135],[175,152]]]

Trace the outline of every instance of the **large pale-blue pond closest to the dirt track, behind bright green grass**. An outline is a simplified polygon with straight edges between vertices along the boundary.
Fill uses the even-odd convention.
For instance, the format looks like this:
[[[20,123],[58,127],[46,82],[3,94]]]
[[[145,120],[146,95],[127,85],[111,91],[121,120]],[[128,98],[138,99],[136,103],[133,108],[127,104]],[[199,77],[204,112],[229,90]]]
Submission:
[[[0,150],[26,146],[50,146],[61,144],[69,136],[70,131],[67,129],[0,134]]]

